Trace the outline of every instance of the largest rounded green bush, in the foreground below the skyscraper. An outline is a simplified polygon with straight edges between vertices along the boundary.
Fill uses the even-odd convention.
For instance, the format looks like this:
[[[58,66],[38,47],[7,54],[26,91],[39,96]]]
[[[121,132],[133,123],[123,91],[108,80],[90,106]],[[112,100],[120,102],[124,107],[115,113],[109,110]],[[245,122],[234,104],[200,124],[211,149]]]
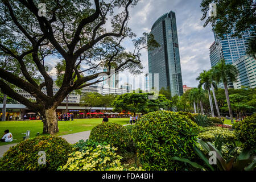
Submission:
[[[133,139],[137,156],[147,170],[184,170],[173,156],[192,158],[197,140],[196,123],[172,111],[155,111],[135,124]]]

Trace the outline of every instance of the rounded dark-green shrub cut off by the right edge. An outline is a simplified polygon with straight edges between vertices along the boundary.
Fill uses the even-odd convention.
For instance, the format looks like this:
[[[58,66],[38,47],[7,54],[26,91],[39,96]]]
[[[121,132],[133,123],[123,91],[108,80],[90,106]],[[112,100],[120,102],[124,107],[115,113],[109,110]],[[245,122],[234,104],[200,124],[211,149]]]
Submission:
[[[256,114],[238,122],[235,133],[244,147],[256,147]]]

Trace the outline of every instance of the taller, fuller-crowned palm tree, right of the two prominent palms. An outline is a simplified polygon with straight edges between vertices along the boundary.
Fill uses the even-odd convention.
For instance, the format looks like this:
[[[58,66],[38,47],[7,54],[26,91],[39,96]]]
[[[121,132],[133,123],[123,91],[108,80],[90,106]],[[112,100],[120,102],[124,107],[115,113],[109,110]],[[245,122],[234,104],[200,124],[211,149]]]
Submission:
[[[236,66],[232,64],[226,64],[224,59],[220,60],[218,64],[215,67],[213,67],[214,80],[218,83],[222,82],[224,85],[226,102],[229,107],[229,115],[232,123],[234,122],[233,122],[233,114],[232,114],[232,109],[231,109],[230,100],[229,100],[228,81],[229,82],[237,81],[237,76],[238,76],[238,69],[236,68]]]

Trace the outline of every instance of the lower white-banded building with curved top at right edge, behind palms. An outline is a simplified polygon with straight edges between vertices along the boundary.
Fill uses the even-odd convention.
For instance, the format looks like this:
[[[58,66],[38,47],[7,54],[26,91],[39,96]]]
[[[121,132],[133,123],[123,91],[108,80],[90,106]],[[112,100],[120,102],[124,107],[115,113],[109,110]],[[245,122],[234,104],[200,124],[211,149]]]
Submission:
[[[234,82],[234,88],[240,89],[242,86],[256,87],[256,60],[250,56],[243,56],[236,60],[235,65],[239,71],[237,81]]]

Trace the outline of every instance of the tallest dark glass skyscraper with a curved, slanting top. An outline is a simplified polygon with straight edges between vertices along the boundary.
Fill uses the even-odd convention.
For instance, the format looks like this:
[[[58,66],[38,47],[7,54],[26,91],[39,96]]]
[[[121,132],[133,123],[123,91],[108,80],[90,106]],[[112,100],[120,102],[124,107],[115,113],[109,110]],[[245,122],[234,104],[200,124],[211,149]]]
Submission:
[[[148,72],[152,73],[150,89],[155,88],[154,73],[159,74],[159,90],[170,88],[172,96],[183,95],[179,43],[174,11],[162,15],[151,28],[160,47],[148,50]]]

